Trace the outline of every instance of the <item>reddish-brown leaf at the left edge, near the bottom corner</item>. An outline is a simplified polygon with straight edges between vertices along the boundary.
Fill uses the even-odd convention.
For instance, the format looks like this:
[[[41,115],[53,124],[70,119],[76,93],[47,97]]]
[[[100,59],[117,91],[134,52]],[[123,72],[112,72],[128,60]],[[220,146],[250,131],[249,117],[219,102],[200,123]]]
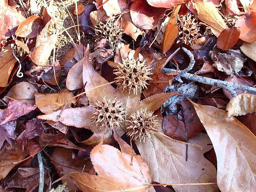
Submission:
[[[17,165],[14,164],[15,162],[22,160],[25,156],[26,152],[22,151],[15,142],[12,144],[12,148],[10,146],[0,148],[0,180],[5,178]]]

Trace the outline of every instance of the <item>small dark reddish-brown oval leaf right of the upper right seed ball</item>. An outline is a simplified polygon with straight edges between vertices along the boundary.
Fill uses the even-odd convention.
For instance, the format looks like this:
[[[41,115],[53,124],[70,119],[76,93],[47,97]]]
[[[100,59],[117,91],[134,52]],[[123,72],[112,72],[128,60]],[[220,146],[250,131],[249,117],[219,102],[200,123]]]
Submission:
[[[228,50],[233,47],[239,39],[240,30],[236,27],[224,29],[217,39],[217,47],[222,50]]]

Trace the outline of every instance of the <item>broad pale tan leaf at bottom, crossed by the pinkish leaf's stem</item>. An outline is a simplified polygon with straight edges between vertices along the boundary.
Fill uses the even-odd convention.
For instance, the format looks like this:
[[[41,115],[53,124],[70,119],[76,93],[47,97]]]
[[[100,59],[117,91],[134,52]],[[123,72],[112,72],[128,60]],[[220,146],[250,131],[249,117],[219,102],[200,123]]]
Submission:
[[[162,121],[159,119],[160,131]],[[163,131],[161,131],[163,132]],[[212,183],[216,182],[216,169],[204,158],[204,153],[212,146],[207,134],[199,133],[189,140],[203,149],[188,145],[188,160],[186,161],[186,144],[179,143],[154,134],[145,139],[145,143],[136,141],[141,156],[148,164],[151,179],[158,183]],[[173,186],[176,192],[213,192],[217,185]]]

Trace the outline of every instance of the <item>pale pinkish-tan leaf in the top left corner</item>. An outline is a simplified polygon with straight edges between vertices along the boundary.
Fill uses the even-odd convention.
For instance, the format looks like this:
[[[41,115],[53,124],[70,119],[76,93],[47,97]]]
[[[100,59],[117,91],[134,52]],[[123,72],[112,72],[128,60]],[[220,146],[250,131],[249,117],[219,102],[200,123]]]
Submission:
[[[25,20],[14,7],[1,2],[0,3],[0,40],[7,39],[14,35],[17,26]]]

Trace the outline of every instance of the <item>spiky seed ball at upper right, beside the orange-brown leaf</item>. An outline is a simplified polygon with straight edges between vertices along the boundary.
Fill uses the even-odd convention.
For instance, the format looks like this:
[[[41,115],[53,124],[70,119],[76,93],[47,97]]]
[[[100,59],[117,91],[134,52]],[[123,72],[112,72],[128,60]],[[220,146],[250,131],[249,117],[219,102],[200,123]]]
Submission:
[[[195,20],[195,17],[191,14],[179,15],[177,23],[179,27],[177,43],[194,45],[194,41],[201,36],[199,33],[200,25]]]

